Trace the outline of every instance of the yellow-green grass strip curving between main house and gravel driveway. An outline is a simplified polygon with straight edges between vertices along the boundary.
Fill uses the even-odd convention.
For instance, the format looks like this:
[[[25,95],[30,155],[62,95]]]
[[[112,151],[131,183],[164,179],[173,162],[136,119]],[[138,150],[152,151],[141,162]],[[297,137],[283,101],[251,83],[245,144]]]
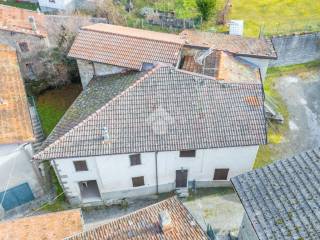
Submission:
[[[303,77],[304,74],[310,73],[310,71],[314,71],[319,67],[320,61],[314,61],[287,67],[275,67],[268,69],[267,78],[264,82],[265,93],[266,95],[272,97],[272,99],[278,105],[278,111],[284,117],[284,123],[268,123],[268,144],[259,147],[254,168],[263,167],[281,158],[282,149],[278,144],[281,144],[281,142],[286,138],[287,132],[289,131],[289,112],[287,110],[286,103],[281,97],[281,94],[276,90],[276,81],[279,81],[279,78],[282,76],[291,74]]]

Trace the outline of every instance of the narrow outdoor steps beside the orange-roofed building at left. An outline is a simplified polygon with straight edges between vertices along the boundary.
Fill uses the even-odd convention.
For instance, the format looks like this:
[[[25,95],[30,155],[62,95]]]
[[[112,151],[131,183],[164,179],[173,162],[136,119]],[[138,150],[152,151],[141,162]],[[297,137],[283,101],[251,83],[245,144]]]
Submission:
[[[39,118],[38,111],[33,98],[31,100],[29,98],[29,111],[30,111],[30,117],[32,121],[33,134],[36,139],[35,142],[32,143],[32,147],[33,147],[34,153],[36,153],[40,150],[40,147],[43,141],[45,140],[45,136],[42,130],[40,118]]]

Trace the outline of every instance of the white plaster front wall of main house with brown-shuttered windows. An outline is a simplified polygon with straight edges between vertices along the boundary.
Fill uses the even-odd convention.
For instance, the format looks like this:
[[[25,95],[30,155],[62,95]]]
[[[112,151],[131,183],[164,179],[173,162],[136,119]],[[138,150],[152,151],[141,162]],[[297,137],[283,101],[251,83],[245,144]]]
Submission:
[[[174,188],[176,170],[188,169],[188,181],[213,182],[215,168],[229,168],[228,179],[252,169],[258,146],[203,149],[195,158],[180,158],[179,151],[158,153],[159,185]],[[76,172],[73,161],[86,160],[88,171]],[[80,196],[78,182],[96,180],[101,194],[156,186],[155,153],[141,153],[141,165],[130,166],[128,154],[56,159],[61,181],[70,196]],[[144,176],[145,186],[132,187],[132,177]],[[215,181],[216,182],[216,181]],[[168,188],[164,188],[167,189]],[[169,189],[172,190],[172,189]],[[160,188],[161,191],[161,188]],[[126,197],[126,196],[123,196]]]

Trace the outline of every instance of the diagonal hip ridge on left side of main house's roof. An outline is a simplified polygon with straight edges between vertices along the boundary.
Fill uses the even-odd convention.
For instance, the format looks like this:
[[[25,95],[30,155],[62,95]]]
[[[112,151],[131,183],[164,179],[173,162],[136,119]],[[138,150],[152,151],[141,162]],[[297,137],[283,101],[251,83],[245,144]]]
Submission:
[[[46,151],[46,149],[48,149],[51,146],[54,146],[56,144],[58,144],[62,139],[64,139],[66,136],[68,136],[71,132],[73,132],[74,130],[78,129],[79,127],[81,127],[83,124],[85,124],[87,121],[89,121],[91,118],[93,118],[93,116],[95,116],[96,114],[98,114],[99,112],[101,112],[102,110],[104,110],[106,107],[108,107],[112,102],[114,102],[116,99],[120,98],[122,95],[124,95],[125,93],[129,92],[132,88],[136,87],[139,83],[141,83],[142,81],[144,81],[147,77],[149,77],[151,74],[153,74],[156,70],[158,70],[159,68],[163,67],[162,64],[157,64],[154,68],[152,68],[151,70],[147,71],[143,76],[141,76],[135,83],[133,83],[131,86],[129,86],[127,89],[125,89],[124,91],[122,91],[121,93],[117,94],[115,97],[113,97],[110,101],[108,101],[104,106],[102,106],[101,108],[99,108],[98,110],[96,110],[95,112],[91,113],[88,117],[86,117],[84,120],[82,120],[81,122],[79,122],[77,125],[75,125],[74,127],[70,128],[69,131],[67,131],[66,133],[64,133],[62,136],[60,136],[57,140],[55,140],[54,142],[50,143],[48,146],[46,146],[42,151],[38,152],[37,154],[35,154],[33,156],[33,159],[37,159],[37,156],[41,155],[43,152]]]

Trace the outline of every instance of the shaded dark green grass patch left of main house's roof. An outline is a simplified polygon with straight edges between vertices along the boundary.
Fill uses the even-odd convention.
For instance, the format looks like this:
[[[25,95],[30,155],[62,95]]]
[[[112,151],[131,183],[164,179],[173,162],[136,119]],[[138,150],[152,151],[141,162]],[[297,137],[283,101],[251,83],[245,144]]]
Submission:
[[[62,88],[47,90],[37,97],[37,109],[46,136],[56,126],[81,90],[80,84],[70,84]]]

